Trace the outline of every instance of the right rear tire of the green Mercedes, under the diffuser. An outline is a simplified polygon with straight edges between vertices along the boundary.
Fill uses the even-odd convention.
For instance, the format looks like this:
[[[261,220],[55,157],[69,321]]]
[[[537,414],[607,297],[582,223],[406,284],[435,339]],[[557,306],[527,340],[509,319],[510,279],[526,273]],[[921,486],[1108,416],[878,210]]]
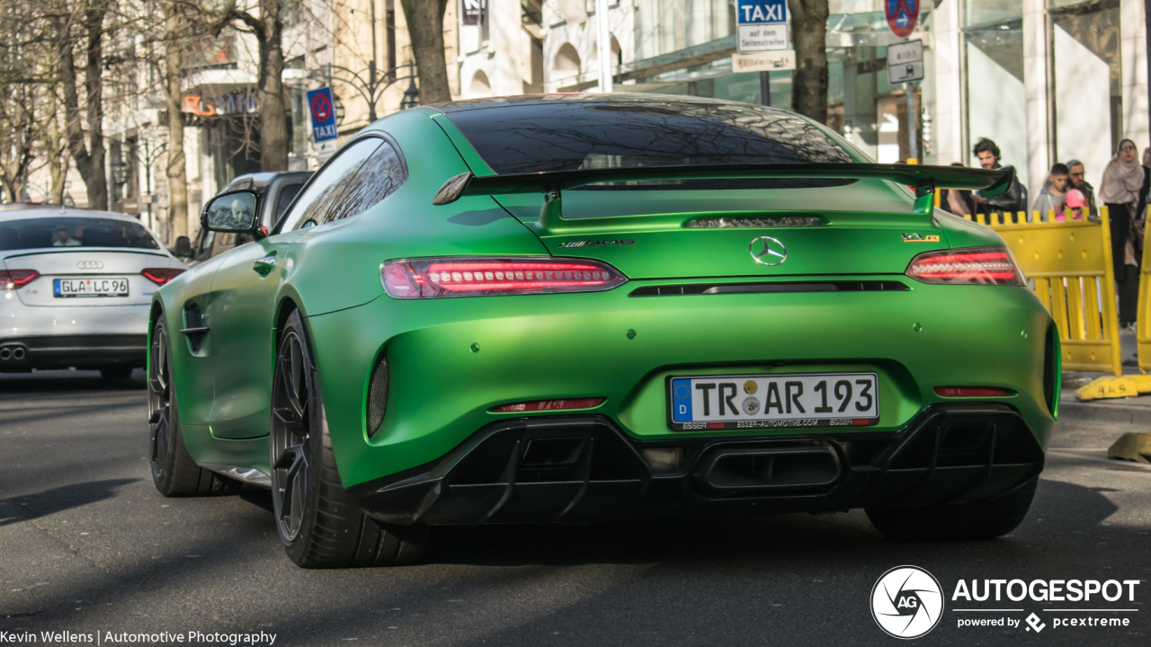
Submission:
[[[978,540],[1003,536],[1027,516],[1039,477],[983,501],[938,505],[868,508],[881,534],[895,541]]]

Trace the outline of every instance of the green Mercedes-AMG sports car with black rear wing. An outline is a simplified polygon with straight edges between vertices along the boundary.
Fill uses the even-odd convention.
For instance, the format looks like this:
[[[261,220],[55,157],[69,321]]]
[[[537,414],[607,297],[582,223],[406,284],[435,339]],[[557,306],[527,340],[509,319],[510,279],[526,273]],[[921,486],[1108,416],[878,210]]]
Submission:
[[[864,508],[892,539],[1026,515],[1054,325],[936,185],[770,107],[653,94],[426,106],[352,137],[270,229],[157,291],[152,475],[272,489],[302,566],[429,526]]]

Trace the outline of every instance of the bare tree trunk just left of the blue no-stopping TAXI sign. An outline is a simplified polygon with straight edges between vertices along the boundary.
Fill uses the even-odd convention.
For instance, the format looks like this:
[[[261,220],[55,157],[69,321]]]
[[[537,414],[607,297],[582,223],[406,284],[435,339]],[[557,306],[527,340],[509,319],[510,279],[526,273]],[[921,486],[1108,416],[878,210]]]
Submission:
[[[236,21],[243,22],[246,31],[256,37],[259,56],[259,76],[256,91],[260,113],[260,169],[284,170],[288,168],[287,104],[284,100],[283,16],[289,0],[257,0],[259,17],[247,9],[239,9],[236,0],[229,0],[223,14],[212,25],[212,33],[219,36],[224,26]]]

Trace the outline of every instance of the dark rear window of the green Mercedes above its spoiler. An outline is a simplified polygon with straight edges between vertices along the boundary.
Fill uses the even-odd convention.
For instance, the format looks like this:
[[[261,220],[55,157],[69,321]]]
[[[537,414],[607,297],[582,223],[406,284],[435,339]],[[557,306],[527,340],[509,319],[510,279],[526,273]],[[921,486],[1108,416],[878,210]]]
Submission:
[[[810,122],[748,104],[631,98],[478,104],[444,113],[500,175],[854,161]]]

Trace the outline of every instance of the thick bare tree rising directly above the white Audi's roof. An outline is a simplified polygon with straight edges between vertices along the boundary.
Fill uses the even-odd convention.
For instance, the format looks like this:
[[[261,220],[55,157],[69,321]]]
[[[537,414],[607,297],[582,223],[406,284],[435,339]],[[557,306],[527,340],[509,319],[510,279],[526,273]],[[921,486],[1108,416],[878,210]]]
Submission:
[[[70,15],[52,16],[56,33],[56,54],[60,60],[60,84],[64,97],[66,131],[68,151],[76,162],[87,189],[87,206],[94,210],[108,208],[108,180],[104,160],[104,20],[110,0],[76,0]],[[75,28],[74,28],[75,23]],[[74,30],[79,32],[74,38]],[[85,102],[79,105],[79,74],[76,69],[74,48],[77,40],[84,56]],[[85,132],[84,127],[87,127]],[[86,138],[86,142],[85,142]]]

